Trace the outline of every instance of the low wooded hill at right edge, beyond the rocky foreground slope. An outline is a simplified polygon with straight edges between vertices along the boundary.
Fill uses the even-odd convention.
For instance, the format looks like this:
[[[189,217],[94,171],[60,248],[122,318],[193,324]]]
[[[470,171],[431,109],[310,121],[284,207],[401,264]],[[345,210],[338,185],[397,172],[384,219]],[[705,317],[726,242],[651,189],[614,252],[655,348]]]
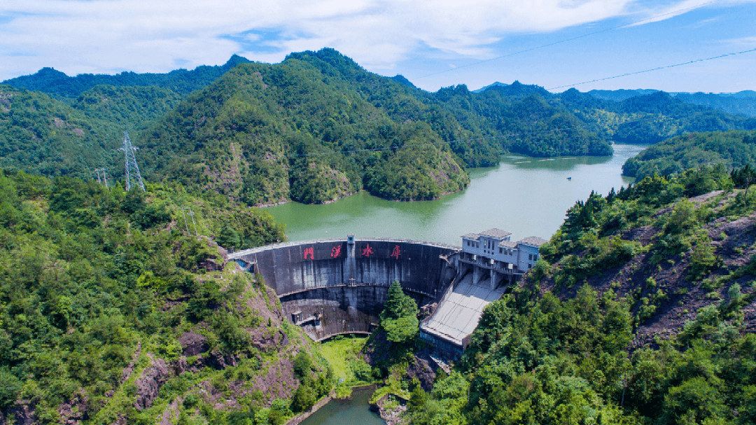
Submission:
[[[642,179],[671,175],[699,166],[728,169],[756,163],[756,132],[703,132],[677,136],[643,150],[622,166],[622,174]]]

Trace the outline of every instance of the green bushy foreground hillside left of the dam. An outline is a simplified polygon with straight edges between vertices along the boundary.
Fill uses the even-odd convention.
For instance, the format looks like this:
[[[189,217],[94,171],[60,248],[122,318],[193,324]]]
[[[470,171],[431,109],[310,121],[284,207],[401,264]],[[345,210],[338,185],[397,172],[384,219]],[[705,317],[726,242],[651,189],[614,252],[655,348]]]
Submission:
[[[209,237],[284,236],[180,185],[0,171],[0,423],[280,425],[329,392],[318,348]]]

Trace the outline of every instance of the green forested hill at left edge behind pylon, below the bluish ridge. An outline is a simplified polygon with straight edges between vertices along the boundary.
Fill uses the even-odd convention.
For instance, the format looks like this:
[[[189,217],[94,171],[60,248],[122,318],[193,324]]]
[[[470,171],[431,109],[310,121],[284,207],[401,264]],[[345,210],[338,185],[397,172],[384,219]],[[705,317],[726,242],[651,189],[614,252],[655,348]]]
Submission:
[[[0,166],[42,175],[123,175],[124,130],[132,137],[175,108],[174,92],[98,85],[67,104],[40,92],[0,85]]]

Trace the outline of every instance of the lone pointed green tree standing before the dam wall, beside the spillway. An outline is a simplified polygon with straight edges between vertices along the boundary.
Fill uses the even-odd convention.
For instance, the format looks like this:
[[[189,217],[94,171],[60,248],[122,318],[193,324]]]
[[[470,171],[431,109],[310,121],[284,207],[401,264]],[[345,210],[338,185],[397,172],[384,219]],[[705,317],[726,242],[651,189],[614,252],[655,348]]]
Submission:
[[[401,290],[398,281],[389,287],[380,321],[386,330],[386,338],[394,343],[410,341],[417,333],[417,302]]]

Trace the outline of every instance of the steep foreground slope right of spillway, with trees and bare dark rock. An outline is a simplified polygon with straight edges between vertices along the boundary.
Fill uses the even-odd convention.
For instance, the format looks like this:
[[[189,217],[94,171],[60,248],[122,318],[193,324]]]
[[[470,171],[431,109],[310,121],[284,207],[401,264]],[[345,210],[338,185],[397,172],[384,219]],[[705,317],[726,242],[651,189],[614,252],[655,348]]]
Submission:
[[[575,204],[408,422],[754,423],[747,185],[690,169]]]

